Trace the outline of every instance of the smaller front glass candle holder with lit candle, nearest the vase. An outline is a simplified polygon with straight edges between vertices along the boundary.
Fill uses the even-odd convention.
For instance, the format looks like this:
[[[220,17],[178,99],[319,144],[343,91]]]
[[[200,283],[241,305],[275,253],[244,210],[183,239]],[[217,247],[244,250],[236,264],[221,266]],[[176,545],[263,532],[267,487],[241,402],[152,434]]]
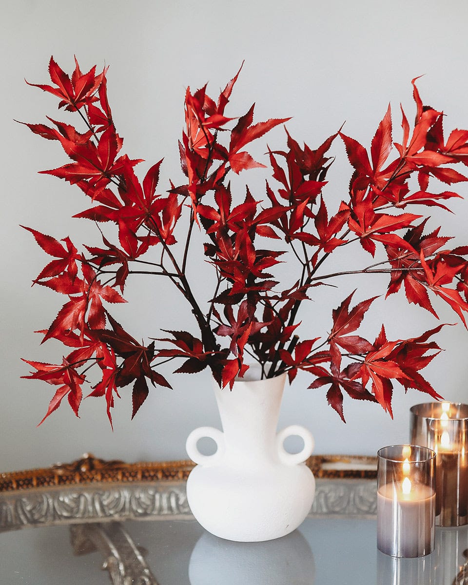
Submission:
[[[377,548],[415,558],[435,543],[435,459],[432,449],[393,445],[377,453]]]

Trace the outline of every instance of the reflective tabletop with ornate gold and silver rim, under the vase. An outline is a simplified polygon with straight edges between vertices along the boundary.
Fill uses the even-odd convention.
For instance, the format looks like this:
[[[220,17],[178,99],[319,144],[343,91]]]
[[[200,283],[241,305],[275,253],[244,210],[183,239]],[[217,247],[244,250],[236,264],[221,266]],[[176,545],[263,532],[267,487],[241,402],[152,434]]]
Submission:
[[[148,479],[134,469],[113,477],[99,461],[75,462],[71,475],[56,468],[46,480],[0,474],[0,584],[468,585],[468,526],[437,528],[424,558],[377,550],[376,481],[359,461],[364,471],[338,462],[328,473],[325,464],[305,522],[263,543],[199,526],[185,498],[187,462]]]

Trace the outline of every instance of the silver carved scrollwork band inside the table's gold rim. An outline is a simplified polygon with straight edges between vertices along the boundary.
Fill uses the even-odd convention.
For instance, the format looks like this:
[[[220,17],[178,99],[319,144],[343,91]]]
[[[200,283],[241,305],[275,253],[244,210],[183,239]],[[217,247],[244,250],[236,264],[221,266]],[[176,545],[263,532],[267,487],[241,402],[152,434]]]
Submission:
[[[376,501],[373,480],[318,479],[311,515],[372,516]],[[191,511],[184,481],[55,487],[0,497],[0,532],[77,522],[188,517]]]

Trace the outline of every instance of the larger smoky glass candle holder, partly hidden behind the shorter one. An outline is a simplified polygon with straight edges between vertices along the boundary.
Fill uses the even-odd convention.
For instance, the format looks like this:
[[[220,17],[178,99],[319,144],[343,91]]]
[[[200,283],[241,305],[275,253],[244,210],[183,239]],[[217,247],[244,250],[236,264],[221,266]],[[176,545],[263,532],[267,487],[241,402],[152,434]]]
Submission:
[[[410,413],[411,442],[436,452],[436,524],[467,524],[468,405],[427,402]]]

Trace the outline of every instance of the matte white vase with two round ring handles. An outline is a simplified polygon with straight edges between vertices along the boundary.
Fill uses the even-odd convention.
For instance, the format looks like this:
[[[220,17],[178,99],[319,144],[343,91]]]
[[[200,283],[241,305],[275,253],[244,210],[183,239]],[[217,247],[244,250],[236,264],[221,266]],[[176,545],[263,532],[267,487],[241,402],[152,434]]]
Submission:
[[[192,431],[188,456],[197,463],[187,480],[194,517],[208,532],[232,541],[280,538],[307,516],[315,479],[305,465],[314,448],[311,433],[292,425],[276,432],[285,374],[257,381],[235,381],[233,389],[215,384],[223,432],[212,427]],[[298,435],[300,453],[287,453],[283,442]],[[197,441],[214,439],[214,455],[199,453]]]

